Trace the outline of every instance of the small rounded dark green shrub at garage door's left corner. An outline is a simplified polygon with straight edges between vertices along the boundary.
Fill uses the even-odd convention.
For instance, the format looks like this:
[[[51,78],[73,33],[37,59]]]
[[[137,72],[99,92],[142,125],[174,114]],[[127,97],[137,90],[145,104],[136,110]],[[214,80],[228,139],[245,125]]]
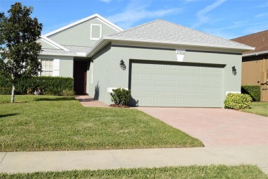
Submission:
[[[124,88],[113,89],[113,93],[111,93],[111,101],[115,105],[127,105],[130,97],[131,91]]]

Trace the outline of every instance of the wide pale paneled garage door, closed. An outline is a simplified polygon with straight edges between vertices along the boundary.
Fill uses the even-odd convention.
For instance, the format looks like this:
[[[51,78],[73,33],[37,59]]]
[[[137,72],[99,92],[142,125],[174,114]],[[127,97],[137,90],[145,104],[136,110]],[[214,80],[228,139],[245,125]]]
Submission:
[[[131,96],[139,106],[223,107],[223,66],[131,63]]]

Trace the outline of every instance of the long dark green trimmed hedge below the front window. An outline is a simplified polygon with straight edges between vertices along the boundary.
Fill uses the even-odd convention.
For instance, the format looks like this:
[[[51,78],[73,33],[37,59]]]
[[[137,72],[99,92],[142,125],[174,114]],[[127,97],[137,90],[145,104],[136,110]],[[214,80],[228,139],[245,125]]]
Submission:
[[[63,90],[74,89],[73,78],[53,77],[53,76],[32,76],[30,78],[23,78],[16,85],[15,94],[32,94],[38,87],[41,92],[46,95],[60,96]],[[0,94],[11,94],[12,87],[10,83],[4,78],[0,78]]]

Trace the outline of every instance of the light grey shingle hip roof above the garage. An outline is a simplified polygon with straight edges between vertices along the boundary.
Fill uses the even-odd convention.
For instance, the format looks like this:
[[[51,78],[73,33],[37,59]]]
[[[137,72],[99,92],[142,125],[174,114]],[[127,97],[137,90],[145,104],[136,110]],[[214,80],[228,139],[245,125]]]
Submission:
[[[251,49],[251,47],[226,40],[218,36],[206,34],[198,30],[186,28],[164,20],[144,23],[130,30],[124,30],[109,36],[117,39],[134,39],[142,41],[158,41],[185,45],[207,45],[210,47],[225,47]]]

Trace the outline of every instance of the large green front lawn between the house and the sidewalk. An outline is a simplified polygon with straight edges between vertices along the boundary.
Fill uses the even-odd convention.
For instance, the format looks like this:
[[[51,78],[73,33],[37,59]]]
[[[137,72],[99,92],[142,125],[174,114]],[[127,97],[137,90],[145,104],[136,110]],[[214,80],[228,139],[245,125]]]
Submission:
[[[203,147],[137,109],[83,107],[71,97],[0,96],[0,151]]]

